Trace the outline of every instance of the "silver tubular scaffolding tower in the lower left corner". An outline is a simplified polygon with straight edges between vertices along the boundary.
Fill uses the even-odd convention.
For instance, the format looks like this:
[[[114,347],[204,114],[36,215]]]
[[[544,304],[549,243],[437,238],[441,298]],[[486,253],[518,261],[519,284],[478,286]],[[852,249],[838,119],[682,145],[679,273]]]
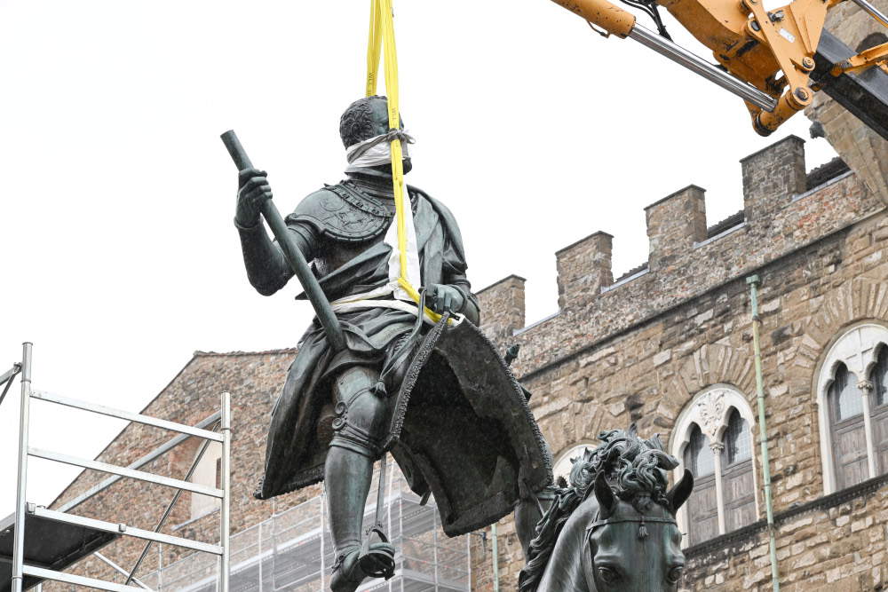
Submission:
[[[144,414],[135,414],[129,411],[95,405],[85,401],[67,399],[59,397],[58,395],[52,393],[35,391],[32,388],[32,350],[32,343],[22,343],[21,363],[13,365],[12,370],[0,376],[0,384],[3,384],[4,382],[6,383],[4,389],[5,394],[5,390],[8,390],[9,385],[12,383],[12,378],[16,374],[21,375],[19,466],[14,522],[15,532],[12,543],[12,592],[22,592],[22,590],[24,589],[25,576],[31,576],[42,580],[56,580],[69,584],[74,584],[76,586],[86,586],[89,588],[110,590],[112,592],[131,592],[132,590],[142,592],[143,590],[147,589],[147,587],[141,581],[135,579],[135,572],[139,569],[139,564],[141,564],[142,559],[147,554],[147,550],[154,542],[175,545],[178,547],[193,549],[195,551],[202,551],[218,556],[219,569],[217,590],[218,592],[228,592],[231,544],[231,395],[227,391],[223,392],[221,394],[221,410],[217,414],[213,414],[207,419],[203,420],[197,426],[169,422]],[[28,445],[31,399],[43,400],[48,403],[53,403],[65,407],[73,407],[75,409],[81,409],[93,414],[106,415],[108,417],[115,417],[129,422],[151,425],[163,430],[176,431],[179,435],[176,438],[170,439],[162,446],[156,448],[153,452],[143,456],[136,462],[133,462],[126,467],[119,467],[113,464],[108,464],[107,462],[92,461],[88,459],[77,458],[75,456],[70,456],[67,454],[60,454],[49,450],[34,448]],[[0,397],[0,401],[2,401],[2,397]],[[205,429],[215,422],[218,422],[219,425],[218,432]],[[197,485],[187,480],[163,477],[160,475],[155,475],[154,473],[148,473],[146,471],[139,470],[147,463],[155,460],[155,458],[157,458],[161,454],[168,452],[173,447],[178,446],[178,444],[191,437],[202,438],[203,442],[201,452],[194,460],[192,468],[188,471],[186,479],[190,478],[193,474],[197,462],[200,460],[200,457],[206,450],[207,446],[209,446],[210,442],[218,442],[222,445],[220,484],[222,485],[222,487],[220,489],[216,487],[208,487],[205,485]],[[43,458],[45,460],[53,462],[70,464],[81,467],[83,469],[99,470],[102,472],[110,473],[112,477],[107,478],[103,482],[99,483],[99,485],[92,487],[89,491],[81,494],[74,500],[68,501],[60,509],[46,509],[42,507],[37,507],[35,504],[28,503],[28,501],[26,501],[26,495],[28,493],[28,458],[30,457]],[[158,485],[165,485],[177,490],[175,497],[170,502],[166,512],[164,512],[163,518],[161,519],[159,524],[155,526],[154,530],[148,531],[130,525],[125,525],[123,523],[111,523],[104,520],[77,516],[75,514],[69,513],[69,510],[74,509],[76,506],[83,503],[83,501],[90,499],[92,496],[107,489],[107,487],[113,485],[116,481],[124,477],[146,481],[148,483],[155,483]],[[166,517],[169,516],[172,505],[176,503],[176,501],[178,500],[178,496],[182,491],[190,491],[193,493],[200,493],[202,495],[209,495],[210,497],[221,500],[219,525],[220,533],[218,545],[160,533],[160,529],[163,527],[163,523]],[[34,517],[42,517],[55,522],[66,523],[68,525],[80,525],[102,532],[122,534],[124,536],[139,538],[147,541],[147,545],[142,553],[142,556],[139,558],[139,561],[131,569],[130,572],[125,572],[123,568],[116,564],[113,564],[113,562],[109,562],[104,556],[99,556],[98,553],[94,554],[99,556],[99,558],[105,563],[111,565],[111,567],[114,568],[116,572],[121,572],[126,575],[127,578],[124,584],[118,584],[106,580],[96,580],[93,578],[76,575],[74,573],[44,569],[42,567],[37,567],[36,565],[25,563],[25,517],[28,515]],[[130,586],[129,584],[131,581],[135,581],[139,586]]]

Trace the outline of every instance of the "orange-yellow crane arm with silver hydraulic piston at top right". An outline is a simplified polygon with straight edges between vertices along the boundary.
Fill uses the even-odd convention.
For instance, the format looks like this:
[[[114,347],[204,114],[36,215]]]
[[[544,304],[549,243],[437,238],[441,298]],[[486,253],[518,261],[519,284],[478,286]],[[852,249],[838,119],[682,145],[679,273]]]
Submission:
[[[843,0],[795,0],[765,10],[763,0],[656,0],[712,51],[713,67],[669,39],[641,27],[635,16],[608,0],[553,0],[608,33],[630,37],[677,61],[746,101],[754,129],[766,136],[811,104],[811,73],[823,23]],[[853,0],[876,20],[888,19],[868,0]],[[888,43],[845,59],[833,76],[888,63]],[[814,87],[814,88],[812,88]],[[880,97],[888,103],[888,97]],[[880,131],[880,133],[882,133]]]

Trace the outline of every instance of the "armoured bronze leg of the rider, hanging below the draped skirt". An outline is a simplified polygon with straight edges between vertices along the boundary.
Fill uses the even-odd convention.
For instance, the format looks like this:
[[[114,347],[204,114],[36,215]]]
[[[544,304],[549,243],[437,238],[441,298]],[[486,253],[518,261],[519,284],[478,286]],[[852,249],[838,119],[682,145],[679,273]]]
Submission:
[[[355,366],[338,375],[333,385],[337,417],[324,479],[330,532],[337,554],[330,584],[335,592],[357,588],[366,575],[357,565],[361,559],[361,522],[373,462],[382,452],[387,420],[387,401],[374,392],[377,379],[377,370]],[[376,543],[371,549],[377,551],[377,556],[384,554],[386,561],[394,555],[387,543]]]

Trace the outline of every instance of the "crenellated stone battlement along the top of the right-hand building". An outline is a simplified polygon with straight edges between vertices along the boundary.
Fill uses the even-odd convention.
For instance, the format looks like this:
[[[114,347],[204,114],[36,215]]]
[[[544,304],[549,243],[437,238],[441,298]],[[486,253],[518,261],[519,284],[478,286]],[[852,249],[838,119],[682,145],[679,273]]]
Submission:
[[[501,346],[519,343],[519,375],[819,241],[884,205],[844,162],[807,173],[805,141],[789,136],[741,159],[743,209],[707,225],[705,190],[687,185],[645,209],[646,264],[614,281],[613,236],[596,232],[555,253],[559,312],[525,326],[524,284],[480,290],[482,322]]]

